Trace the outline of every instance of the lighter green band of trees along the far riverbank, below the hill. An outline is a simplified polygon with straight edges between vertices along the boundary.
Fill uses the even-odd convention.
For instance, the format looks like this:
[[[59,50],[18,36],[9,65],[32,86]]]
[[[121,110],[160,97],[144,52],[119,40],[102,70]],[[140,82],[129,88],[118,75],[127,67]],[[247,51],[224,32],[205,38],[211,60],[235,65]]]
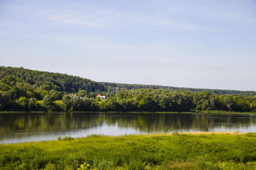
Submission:
[[[95,99],[97,93],[81,90],[76,94],[64,95],[55,100],[54,94],[47,94],[42,101],[36,98],[19,97],[3,100],[2,111],[123,111],[123,112],[193,112],[193,111],[256,111],[256,97],[253,95],[216,95],[209,91],[168,90],[122,90],[116,94],[105,92],[106,100]],[[3,101],[5,102],[3,104]]]

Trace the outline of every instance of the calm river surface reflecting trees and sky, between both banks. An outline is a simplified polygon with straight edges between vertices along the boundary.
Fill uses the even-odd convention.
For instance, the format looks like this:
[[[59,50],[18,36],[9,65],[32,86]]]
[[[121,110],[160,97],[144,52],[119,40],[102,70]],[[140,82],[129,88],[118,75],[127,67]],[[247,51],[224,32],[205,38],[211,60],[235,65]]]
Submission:
[[[0,142],[56,139],[71,135],[256,131],[254,114],[207,113],[0,113]]]

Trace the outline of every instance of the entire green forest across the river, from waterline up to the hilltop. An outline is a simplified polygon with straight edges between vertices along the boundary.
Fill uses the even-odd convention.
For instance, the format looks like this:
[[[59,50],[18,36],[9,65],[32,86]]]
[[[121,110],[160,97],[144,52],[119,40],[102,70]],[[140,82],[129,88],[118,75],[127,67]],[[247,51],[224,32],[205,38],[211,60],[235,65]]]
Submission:
[[[96,99],[98,93],[106,99]],[[67,74],[0,67],[0,111],[251,112],[256,110],[255,95],[255,91],[94,82]]]

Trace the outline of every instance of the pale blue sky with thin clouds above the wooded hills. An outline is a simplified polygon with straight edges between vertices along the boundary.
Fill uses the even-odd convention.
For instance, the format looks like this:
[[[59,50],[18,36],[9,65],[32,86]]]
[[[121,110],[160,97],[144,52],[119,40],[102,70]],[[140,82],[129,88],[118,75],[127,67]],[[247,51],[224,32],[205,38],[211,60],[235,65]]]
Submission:
[[[256,91],[256,1],[0,0],[0,65]]]

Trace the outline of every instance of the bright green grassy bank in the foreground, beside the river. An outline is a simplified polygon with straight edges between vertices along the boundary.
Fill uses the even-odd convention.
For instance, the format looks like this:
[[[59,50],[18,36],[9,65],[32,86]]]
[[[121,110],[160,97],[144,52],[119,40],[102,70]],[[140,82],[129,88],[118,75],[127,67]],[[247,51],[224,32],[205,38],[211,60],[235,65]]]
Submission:
[[[66,137],[0,145],[0,169],[255,169],[256,133]]]

